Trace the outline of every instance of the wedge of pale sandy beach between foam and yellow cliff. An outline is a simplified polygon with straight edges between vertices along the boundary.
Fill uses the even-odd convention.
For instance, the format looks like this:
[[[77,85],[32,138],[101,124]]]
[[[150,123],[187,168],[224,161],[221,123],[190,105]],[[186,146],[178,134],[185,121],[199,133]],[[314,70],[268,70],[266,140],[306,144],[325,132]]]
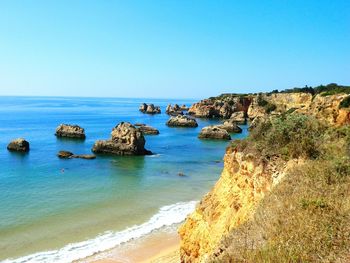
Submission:
[[[176,263],[179,262],[176,231],[159,231],[108,251],[79,260],[79,263]]]

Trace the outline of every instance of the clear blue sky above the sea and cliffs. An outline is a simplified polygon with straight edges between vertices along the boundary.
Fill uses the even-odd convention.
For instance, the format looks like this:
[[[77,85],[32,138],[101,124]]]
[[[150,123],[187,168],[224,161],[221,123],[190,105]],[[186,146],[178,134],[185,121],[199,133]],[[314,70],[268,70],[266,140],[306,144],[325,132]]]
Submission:
[[[350,1],[0,1],[0,95],[350,84]]]

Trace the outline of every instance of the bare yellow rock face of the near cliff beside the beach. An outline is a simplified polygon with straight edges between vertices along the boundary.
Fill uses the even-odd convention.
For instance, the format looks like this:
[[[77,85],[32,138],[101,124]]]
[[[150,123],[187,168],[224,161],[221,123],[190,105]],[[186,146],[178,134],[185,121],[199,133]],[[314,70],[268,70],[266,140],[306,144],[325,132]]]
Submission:
[[[181,261],[204,262],[223,236],[254,213],[265,193],[283,177],[286,164],[264,165],[251,154],[228,148],[214,188],[180,227]]]

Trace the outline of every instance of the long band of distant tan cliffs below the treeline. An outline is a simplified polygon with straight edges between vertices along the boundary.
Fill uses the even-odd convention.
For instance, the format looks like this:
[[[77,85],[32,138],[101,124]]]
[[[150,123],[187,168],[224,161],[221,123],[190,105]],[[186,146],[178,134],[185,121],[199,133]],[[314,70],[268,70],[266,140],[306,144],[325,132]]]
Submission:
[[[305,89],[301,89],[301,92],[222,94],[194,103],[188,113],[199,118],[229,119],[240,112],[253,120],[265,115],[296,111],[314,115],[331,125],[344,125],[350,123],[350,87],[340,87],[333,92],[315,88],[316,94],[304,92]]]

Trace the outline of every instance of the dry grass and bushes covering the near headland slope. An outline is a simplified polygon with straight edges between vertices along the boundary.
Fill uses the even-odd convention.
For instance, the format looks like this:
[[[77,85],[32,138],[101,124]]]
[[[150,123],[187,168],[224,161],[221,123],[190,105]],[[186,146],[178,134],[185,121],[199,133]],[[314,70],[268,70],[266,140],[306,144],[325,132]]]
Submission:
[[[261,121],[232,147],[266,162],[302,162],[266,196],[252,220],[231,231],[210,261],[347,262],[350,126],[284,114]]]

